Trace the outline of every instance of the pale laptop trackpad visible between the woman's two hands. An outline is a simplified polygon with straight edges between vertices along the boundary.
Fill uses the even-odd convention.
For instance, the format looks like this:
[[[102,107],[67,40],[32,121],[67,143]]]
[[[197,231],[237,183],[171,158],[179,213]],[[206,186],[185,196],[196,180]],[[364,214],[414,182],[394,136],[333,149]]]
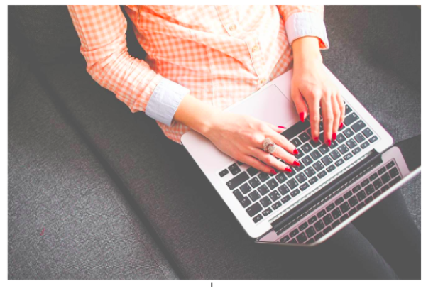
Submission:
[[[292,100],[285,97],[275,84],[252,94],[226,111],[247,114],[275,126],[290,126],[299,120]]]

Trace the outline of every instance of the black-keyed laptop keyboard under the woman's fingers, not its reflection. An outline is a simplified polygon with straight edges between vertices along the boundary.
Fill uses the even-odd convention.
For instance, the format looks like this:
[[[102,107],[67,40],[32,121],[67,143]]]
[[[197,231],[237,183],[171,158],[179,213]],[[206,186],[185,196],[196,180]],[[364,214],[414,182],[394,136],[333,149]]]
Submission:
[[[291,167],[292,172],[279,172],[276,175],[259,172],[255,168],[242,170],[243,163],[233,163],[219,172],[220,177],[232,177],[226,185],[239,200],[254,223],[263,220],[275,209],[287,203],[293,197],[307,190],[330,172],[353,158],[364,148],[378,140],[373,131],[366,126],[359,116],[345,105],[344,127],[341,128],[327,146],[324,141],[322,122],[319,125],[319,141],[311,138],[310,122],[298,122],[283,131],[283,136],[295,145],[299,154],[299,167]]]

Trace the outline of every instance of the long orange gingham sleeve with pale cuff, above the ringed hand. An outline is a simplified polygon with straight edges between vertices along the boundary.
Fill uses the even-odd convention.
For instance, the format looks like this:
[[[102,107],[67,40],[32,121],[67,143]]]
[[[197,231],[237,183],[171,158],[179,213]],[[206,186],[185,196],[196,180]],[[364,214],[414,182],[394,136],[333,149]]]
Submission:
[[[116,94],[132,112],[170,125],[182,97],[190,90],[154,72],[147,62],[132,57],[126,46],[126,18],[118,5],[70,5],[81,41],[87,72]]]

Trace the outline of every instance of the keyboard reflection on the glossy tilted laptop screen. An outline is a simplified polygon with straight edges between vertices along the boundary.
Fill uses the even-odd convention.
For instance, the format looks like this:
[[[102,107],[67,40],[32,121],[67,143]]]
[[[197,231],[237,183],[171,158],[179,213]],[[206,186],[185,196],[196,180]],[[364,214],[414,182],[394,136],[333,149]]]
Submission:
[[[365,180],[353,184],[348,192],[342,196],[331,197],[333,198],[331,201],[315,209],[312,214],[306,216],[310,219],[302,221],[278,242],[313,243],[317,241],[400,180],[400,173],[394,160],[378,166],[376,171]]]

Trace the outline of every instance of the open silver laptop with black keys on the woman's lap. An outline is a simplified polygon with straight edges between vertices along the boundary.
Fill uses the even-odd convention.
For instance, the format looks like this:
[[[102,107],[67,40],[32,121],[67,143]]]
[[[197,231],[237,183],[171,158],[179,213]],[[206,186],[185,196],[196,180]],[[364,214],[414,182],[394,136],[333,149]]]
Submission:
[[[256,243],[316,246],[412,179],[421,169],[421,136],[393,144],[376,119],[346,87],[344,127],[326,146],[311,138],[290,98],[292,70],[226,109],[276,126],[295,145],[299,167],[269,175],[240,163],[195,131],[182,145],[248,236]],[[322,131],[322,123],[321,123]]]

